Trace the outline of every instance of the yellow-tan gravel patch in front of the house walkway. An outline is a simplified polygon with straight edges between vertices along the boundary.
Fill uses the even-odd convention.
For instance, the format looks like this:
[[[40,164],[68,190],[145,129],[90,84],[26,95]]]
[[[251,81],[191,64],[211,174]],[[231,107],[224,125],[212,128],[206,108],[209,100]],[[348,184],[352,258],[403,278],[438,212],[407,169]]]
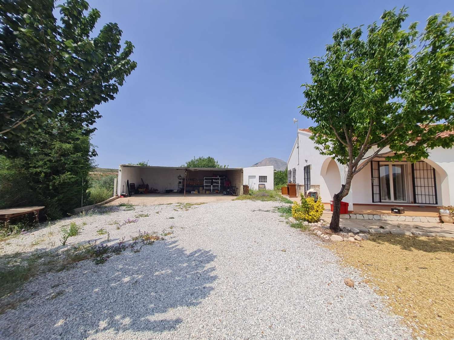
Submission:
[[[454,339],[454,239],[372,235],[327,247],[367,274],[416,335]]]

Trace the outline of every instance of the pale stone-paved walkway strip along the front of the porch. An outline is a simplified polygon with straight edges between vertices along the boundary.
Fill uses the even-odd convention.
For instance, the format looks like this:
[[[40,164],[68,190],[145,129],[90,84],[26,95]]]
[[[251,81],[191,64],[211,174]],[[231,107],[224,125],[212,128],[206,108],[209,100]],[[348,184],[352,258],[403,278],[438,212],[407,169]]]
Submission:
[[[322,220],[326,223],[330,223],[331,221],[330,213],[324,213],[322,216]],[[454,224],[450,223],[341,219],[341,226],[347,228],[356,228],[360,231],[370,233],[375,232],[418,236],[454,237]]]

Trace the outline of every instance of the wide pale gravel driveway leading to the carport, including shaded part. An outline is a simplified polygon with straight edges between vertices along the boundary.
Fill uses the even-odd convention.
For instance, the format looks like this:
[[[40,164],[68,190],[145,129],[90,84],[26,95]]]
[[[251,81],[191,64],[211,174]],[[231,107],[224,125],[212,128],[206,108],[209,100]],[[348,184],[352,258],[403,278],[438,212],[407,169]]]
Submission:
[[[358,273],[341,267],[309,233],[290,228],[272,211],[276,205],[120,208],[12,239],[0,255],[59,248],[59,228],[71,221],[87,224],[69,246],[105,240],[99,228],[109,231],[110,243],[139,229],[173,231],[139,253],[100,265],[86,260],[30,280],[16,295],[28,300],[0,315],[0,338],[410,339],[367,285],[345,286],[345,277],[359,282]],[[120,229],[108,224],[146,213]],[[30,246],[37,239],[41,243]]]

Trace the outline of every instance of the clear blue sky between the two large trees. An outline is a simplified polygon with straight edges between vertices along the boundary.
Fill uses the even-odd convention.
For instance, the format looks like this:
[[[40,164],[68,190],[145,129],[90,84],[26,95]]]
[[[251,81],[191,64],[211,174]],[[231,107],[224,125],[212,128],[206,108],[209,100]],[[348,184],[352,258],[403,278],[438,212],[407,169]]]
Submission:
[[[287,160],[300,127],[308,58],[324,54],[342,24],[379,20],[409,6],[419,29],[452,1],[89,0],[97,29],[116,22],[138,67],[102,104],[93,144],[101,167],[148,160],[181,165],[212,156],[230,167]]]

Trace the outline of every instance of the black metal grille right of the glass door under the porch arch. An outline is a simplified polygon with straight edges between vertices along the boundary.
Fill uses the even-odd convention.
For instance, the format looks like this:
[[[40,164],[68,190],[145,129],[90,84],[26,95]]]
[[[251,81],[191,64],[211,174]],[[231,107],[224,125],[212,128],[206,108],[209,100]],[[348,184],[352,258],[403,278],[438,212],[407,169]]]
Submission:
[[[435,169],[424,161],[411,165],[413,199],[419,204],[438,204]]]

